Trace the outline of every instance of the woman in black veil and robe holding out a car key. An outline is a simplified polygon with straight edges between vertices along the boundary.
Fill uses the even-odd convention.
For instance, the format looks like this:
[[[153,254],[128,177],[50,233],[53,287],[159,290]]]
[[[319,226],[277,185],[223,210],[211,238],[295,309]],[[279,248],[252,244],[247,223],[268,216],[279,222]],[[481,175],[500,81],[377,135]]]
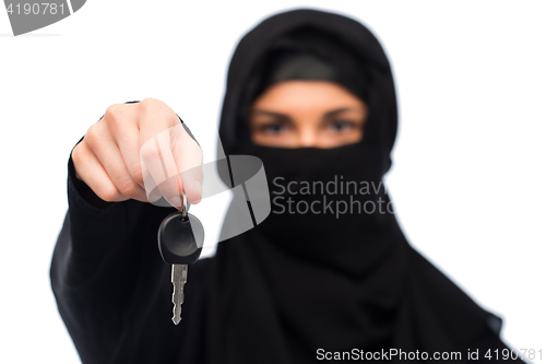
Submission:
[[[108,180],[90,178],[84,139],[69,163],[70,209],[51,266],[82,362],[461,362],[468,353],[490,362],[488,350],[506,349],[500,319],[417,254],[392,212],[382,177],[396,117],[389,62],[361,24],[297,10],[247,34],[219,134],[226,154],[262,160],[273,211],[190,268],[180,326],[154,244],[171,211],[127,199],[106,163]],[[117,192],[104,195],[99,181]],[[185,180],[197,202],[193,186]],[[237,213],[233,204],[228,216]]]

